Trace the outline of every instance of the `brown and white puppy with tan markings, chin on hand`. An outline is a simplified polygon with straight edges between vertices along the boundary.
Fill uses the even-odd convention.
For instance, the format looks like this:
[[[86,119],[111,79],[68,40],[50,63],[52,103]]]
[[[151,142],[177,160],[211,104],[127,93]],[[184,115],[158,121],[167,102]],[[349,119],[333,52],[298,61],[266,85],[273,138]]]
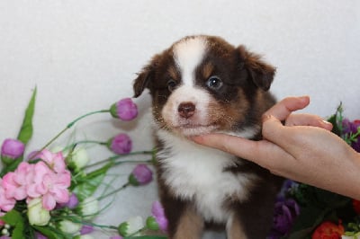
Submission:
[[[266,238],[280,179],[246,160],[189,137],[222,132],[261,137],[261,115],[275,68],[243,46],[191,36],[152,58],[134,83],[152,96],[159,194],[170,238],[200,238],[225,226],[229,239]]]

